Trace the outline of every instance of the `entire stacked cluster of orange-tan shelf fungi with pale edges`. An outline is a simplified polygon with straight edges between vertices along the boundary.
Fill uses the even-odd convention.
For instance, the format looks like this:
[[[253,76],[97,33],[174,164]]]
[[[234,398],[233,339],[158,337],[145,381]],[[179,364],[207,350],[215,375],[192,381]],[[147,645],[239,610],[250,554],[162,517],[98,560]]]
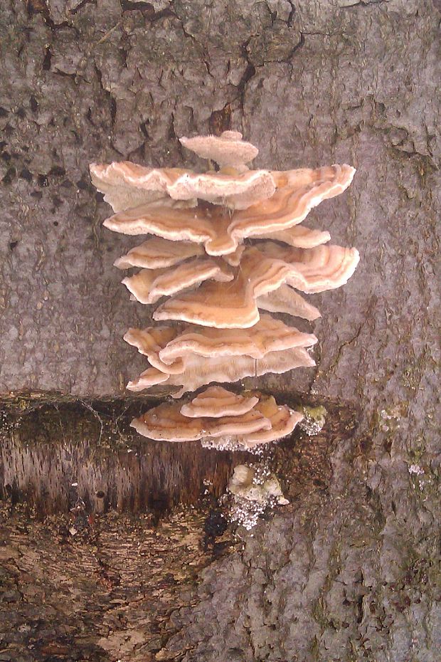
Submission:
[[[330,245],[329,232],[300,225],[351,184],[354,168],[249,169],[258,150],[235,131],[181,143],[209,159],[208,172],[90,166],[115,211],[104,225],[148,236],[115,262],[140,268],[122,283],[134,300],[156,305],[159,322],[124,335],[149,361],[127,388],[165,384],[179,387],[172,397],[181,399],[211,382],[314,366],[308,350],[317,338],[271,313],[315,320],[319,310],[300,293],[339,288],[354,273],[356,248]],[[155,440],[252,449],[290,434],[301,419],[272,396],[216,385],[184,404],[149,409],[132,426]]]

